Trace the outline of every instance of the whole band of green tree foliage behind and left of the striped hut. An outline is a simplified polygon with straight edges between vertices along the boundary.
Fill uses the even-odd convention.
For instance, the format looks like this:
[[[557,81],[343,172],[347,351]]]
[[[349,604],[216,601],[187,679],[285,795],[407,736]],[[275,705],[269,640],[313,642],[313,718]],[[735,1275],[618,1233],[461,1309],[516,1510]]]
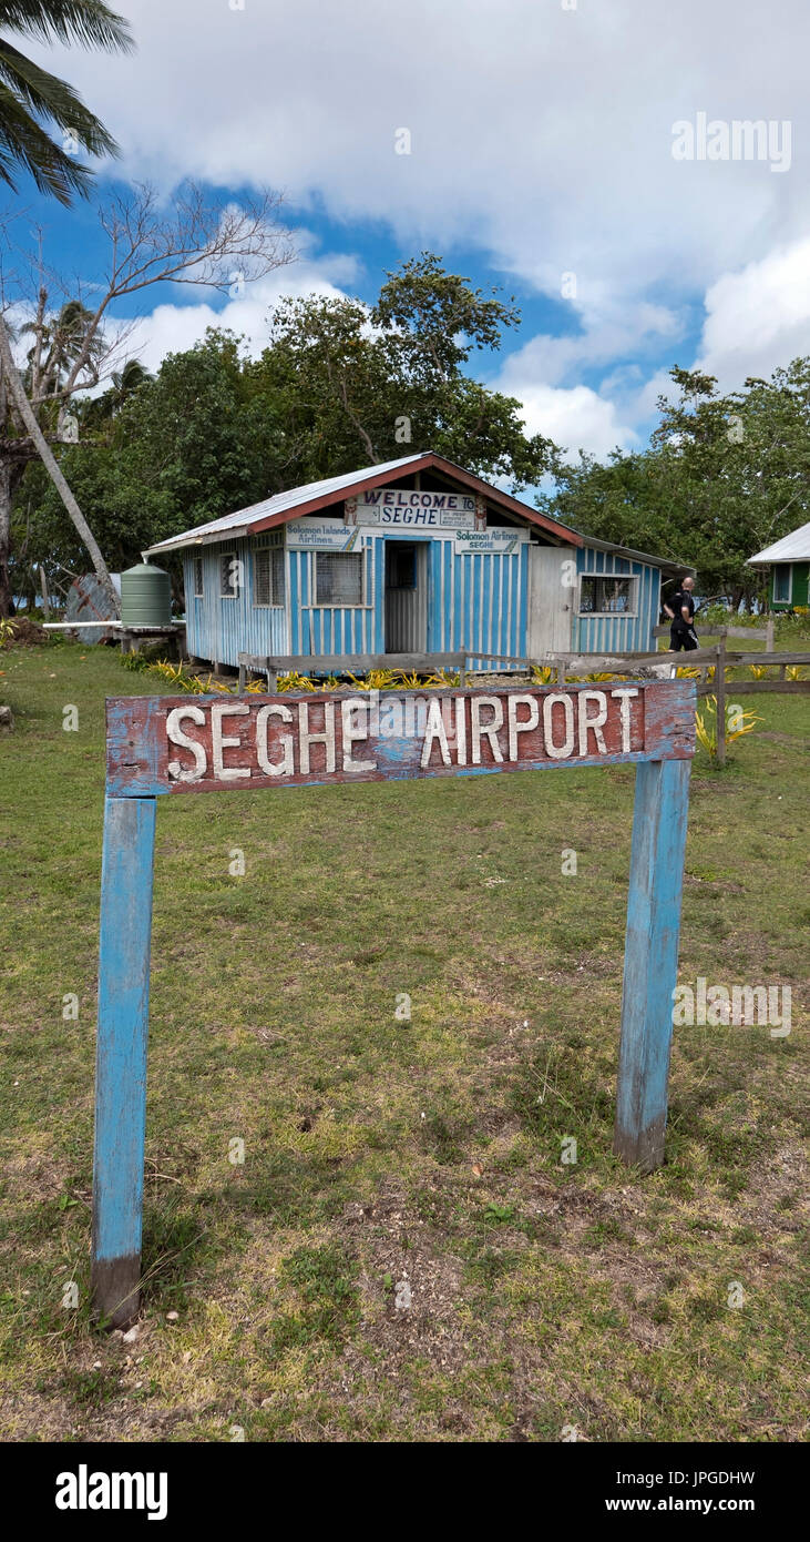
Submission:
[[[59,358],[69,356],[69,322],[54,322]],[[516,324],[511,305],[423,253],[388,274],[371,313],[356,299],[282,301],[259,359],[209,328],[154,379],[129,361],[102,396],[74,404],[79,444],[62,450],[62,469],[111,571],[286,487],[419,449],[527,486],[550,469],[554,446],[527,438],[517,401],[462,373],[474,348],[497,348]],[[12,550],[15,592],[31,598],[32,563],[45,563],[51,588],[62,571],[86,569],[38,463],[15,495]],[[169,571],[179,592],[177,558]]]

